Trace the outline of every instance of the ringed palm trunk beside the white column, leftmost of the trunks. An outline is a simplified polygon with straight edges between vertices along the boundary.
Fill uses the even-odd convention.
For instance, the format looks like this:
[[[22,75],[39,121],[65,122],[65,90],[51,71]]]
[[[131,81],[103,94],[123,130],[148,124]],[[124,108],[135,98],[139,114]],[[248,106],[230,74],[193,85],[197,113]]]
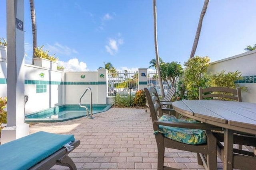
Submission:
[[[34,58],[35,49],[37,47],[36,9],[35,9],[35,6],[34,6],[34,0],[29,0],[29,3],[30,3],[31,23],[32,23],[33,58]],[[34,65],[34,60],[32,60],[32,64]]]

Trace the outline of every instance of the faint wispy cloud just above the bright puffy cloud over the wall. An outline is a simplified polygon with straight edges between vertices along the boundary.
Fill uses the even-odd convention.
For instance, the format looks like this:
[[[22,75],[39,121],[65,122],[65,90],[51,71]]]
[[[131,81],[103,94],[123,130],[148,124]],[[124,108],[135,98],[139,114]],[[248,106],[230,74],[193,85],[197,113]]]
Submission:
[[[71,49],[70,47],[66,45],[61,45],[58,42],[54,43],[54,45],[50,45],[47,43],[45,49],[49,50],[50,53],[55,53],[57,57],[58,55],[78,54],[78,51],[76,51],[76,49]]]

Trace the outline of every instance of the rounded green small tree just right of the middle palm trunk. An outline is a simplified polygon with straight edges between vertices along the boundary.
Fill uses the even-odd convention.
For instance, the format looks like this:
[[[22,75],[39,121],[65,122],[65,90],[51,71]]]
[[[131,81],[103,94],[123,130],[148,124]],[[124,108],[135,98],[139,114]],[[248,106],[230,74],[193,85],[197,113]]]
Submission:
[[[162,63],[160,65],[160,70],[161,70],[162,79],[166,80],[167,84],[168,84],[167,80],[170,80],[172,87],[175,87],[177,78],[183,73],[181,64],[174,61],[171,63],[169,62]],[[171,88],[169,84],[168,86],[169,88]]]

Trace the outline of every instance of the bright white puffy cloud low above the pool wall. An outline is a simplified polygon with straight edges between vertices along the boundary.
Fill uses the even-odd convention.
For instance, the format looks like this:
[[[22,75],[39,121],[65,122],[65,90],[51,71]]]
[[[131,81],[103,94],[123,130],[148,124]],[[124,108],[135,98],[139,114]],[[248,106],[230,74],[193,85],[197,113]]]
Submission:
[[[64,66],[65,69],[70,71],[89,71],[87,64],[78,61],[78,59],[70,59],[68,62],[58,61],[59,66]]]

